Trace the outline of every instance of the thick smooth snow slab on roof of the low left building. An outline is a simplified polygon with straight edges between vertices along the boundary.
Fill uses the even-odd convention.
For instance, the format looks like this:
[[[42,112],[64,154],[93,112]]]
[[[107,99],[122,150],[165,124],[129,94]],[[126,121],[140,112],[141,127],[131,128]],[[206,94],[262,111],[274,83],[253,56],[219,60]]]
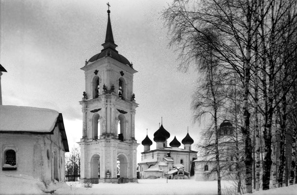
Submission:
[[[51,132],[58,116],[47,108],[0,105],[0,131]]]

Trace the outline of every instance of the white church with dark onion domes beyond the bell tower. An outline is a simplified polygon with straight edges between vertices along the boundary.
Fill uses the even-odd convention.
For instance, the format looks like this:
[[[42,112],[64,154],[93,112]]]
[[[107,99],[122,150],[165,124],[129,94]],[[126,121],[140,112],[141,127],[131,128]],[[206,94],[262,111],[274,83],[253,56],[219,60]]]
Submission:
[[[152,141],[146,135],[142,141],[144,151],[141,153],[141,162],[138,163],[141,179],[167,176],[168,179],[188,179],[194,174],[193,160],[196,159],[197,152],[191,150],[194,141],[189,133],[182,140],[184,149],[179,148],[181,143],[176,137],[170,142],[170,147],[167,147],[169,137],[170,133],[161,125],[154,133],[156,149],[150,150]]]

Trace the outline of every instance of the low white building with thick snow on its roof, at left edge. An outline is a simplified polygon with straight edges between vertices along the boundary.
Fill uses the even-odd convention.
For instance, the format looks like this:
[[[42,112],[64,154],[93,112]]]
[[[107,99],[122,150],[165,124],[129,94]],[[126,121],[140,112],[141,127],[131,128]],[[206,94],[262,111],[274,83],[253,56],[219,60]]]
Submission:
[[[0,105],[0,162],[4,174],[26,174],[49,183],[65,181],[69,152],[61,113]]]

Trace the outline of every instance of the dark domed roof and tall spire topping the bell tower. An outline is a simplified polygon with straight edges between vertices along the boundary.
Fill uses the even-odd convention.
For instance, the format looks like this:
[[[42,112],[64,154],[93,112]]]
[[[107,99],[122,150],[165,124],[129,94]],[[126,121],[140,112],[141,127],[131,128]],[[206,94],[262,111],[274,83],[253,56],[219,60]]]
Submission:
[[[129,60],[124,56],[122,56],[121,54],[119,54],[119,52],[116,50],[117,45],[115,44],[113,39],[113,30],[111,28],[111,22],[110,22],[110,10],[107,10],[107,13],[108,13],[108,20],[107,20],[105,42],[102,44],[103,49],[101,50],[101,53],[97,53],[95,56],[91,57],[88,62],[94,62],[103,57],[110,56],[111,58],[132,67]]]

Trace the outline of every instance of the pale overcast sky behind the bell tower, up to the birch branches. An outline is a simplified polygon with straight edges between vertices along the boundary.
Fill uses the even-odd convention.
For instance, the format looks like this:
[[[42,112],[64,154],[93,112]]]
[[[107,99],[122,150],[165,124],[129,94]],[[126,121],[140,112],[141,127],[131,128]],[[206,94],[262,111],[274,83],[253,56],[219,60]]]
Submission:
[[[193,124],[191,96],[198,73],[177,70],[178,52],[168,47],[167,28],[160,13],[167,2],[114,1],[111,24],[117,50],[138,73],[134,74],[138,143],[153,140],[161,116],[181,142],[187,134],[198,142],[200,127]],[[82,137],[79,101],[85,90],[85,60],[103,48],[107,1],[1,1],[1,76],[3,105],[50,108],[63,114],[68,144]],[[16,121],[17,122],[17,121]],[[32,121],[34,122],[34,121]],[[183,145],[180,147],[183,148]],[[155,144],[151,146],[155,149]],[[138,161],[143,145],[137,148]]]

